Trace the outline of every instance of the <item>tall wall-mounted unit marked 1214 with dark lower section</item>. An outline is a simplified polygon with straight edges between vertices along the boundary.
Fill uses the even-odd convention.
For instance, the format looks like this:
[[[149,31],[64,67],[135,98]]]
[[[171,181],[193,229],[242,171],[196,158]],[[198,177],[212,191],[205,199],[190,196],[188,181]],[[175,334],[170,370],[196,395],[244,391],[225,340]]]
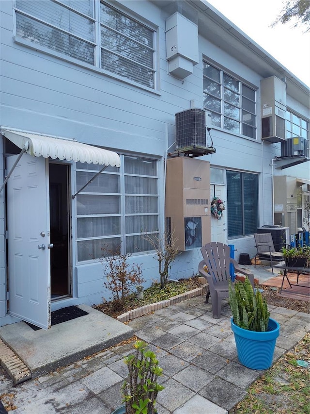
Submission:
[[[276,76],[261,81],[262,139],[283,142],[286,139],[286,84]]]

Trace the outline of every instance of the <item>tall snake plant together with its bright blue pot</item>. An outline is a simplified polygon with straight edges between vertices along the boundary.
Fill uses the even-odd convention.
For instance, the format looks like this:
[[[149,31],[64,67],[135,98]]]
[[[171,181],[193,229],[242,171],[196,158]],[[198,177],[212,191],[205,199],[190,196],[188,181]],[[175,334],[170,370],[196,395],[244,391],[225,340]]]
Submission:
[[[261,291],[255,289],[254,293],[248,277],[244,282],[229,282],[229,304],[240,363],[251,369],[269,368],[280,327],[276,320],[270,318]]]

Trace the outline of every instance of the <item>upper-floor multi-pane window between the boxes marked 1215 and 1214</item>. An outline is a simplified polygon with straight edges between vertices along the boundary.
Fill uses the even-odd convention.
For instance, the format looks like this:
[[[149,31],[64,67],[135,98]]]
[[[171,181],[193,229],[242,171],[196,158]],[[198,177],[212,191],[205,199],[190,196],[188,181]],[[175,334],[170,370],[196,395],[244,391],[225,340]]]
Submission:
[[[203,106],[212,125],[256,139],[256,94],[244,83],[203,62]]]

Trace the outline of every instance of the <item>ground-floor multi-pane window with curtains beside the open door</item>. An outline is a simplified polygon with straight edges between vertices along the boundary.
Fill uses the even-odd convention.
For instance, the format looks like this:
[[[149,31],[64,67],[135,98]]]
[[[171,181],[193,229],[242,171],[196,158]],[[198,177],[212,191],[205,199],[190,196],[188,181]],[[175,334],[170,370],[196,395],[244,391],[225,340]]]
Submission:
[[[154,248],[142,232],[158,233],[157,161],[121,156],[121,167],[106,168],[77,196],[78,262],[102,257],[102,247],[123,253]],[[102,166],[77,163],[77,189]]]

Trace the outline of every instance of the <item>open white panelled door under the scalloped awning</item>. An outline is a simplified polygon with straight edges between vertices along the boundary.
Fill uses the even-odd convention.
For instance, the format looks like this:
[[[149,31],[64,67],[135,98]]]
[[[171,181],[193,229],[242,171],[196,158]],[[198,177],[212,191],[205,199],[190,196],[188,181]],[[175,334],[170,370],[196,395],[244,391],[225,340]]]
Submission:
[[[17,156],[7,159],[10,171]],[[7,182],[9,314],[50,328],[48,161],[24,154]]]

